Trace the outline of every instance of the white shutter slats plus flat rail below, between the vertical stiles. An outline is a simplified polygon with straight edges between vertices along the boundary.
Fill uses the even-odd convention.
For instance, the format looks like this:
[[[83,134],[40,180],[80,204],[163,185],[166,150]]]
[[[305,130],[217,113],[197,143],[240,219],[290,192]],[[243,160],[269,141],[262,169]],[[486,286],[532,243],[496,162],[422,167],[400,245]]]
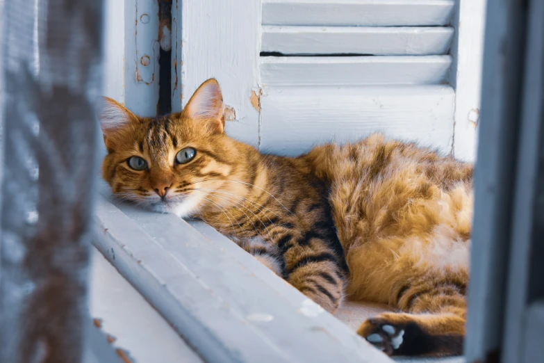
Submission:
[[[264,0],[263,150],[374,131],[449,152],[453,0]]]

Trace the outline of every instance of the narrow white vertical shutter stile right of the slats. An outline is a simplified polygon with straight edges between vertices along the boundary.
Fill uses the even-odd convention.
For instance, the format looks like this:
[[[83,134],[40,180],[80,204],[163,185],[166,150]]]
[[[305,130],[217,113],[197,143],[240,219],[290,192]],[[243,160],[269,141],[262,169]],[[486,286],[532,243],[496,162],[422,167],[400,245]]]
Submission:
[[[454,65],[450,82],[456,90],[454,156],[475,161],[484,58],[486,0],[464,0],[457,5],[452,46]]]

